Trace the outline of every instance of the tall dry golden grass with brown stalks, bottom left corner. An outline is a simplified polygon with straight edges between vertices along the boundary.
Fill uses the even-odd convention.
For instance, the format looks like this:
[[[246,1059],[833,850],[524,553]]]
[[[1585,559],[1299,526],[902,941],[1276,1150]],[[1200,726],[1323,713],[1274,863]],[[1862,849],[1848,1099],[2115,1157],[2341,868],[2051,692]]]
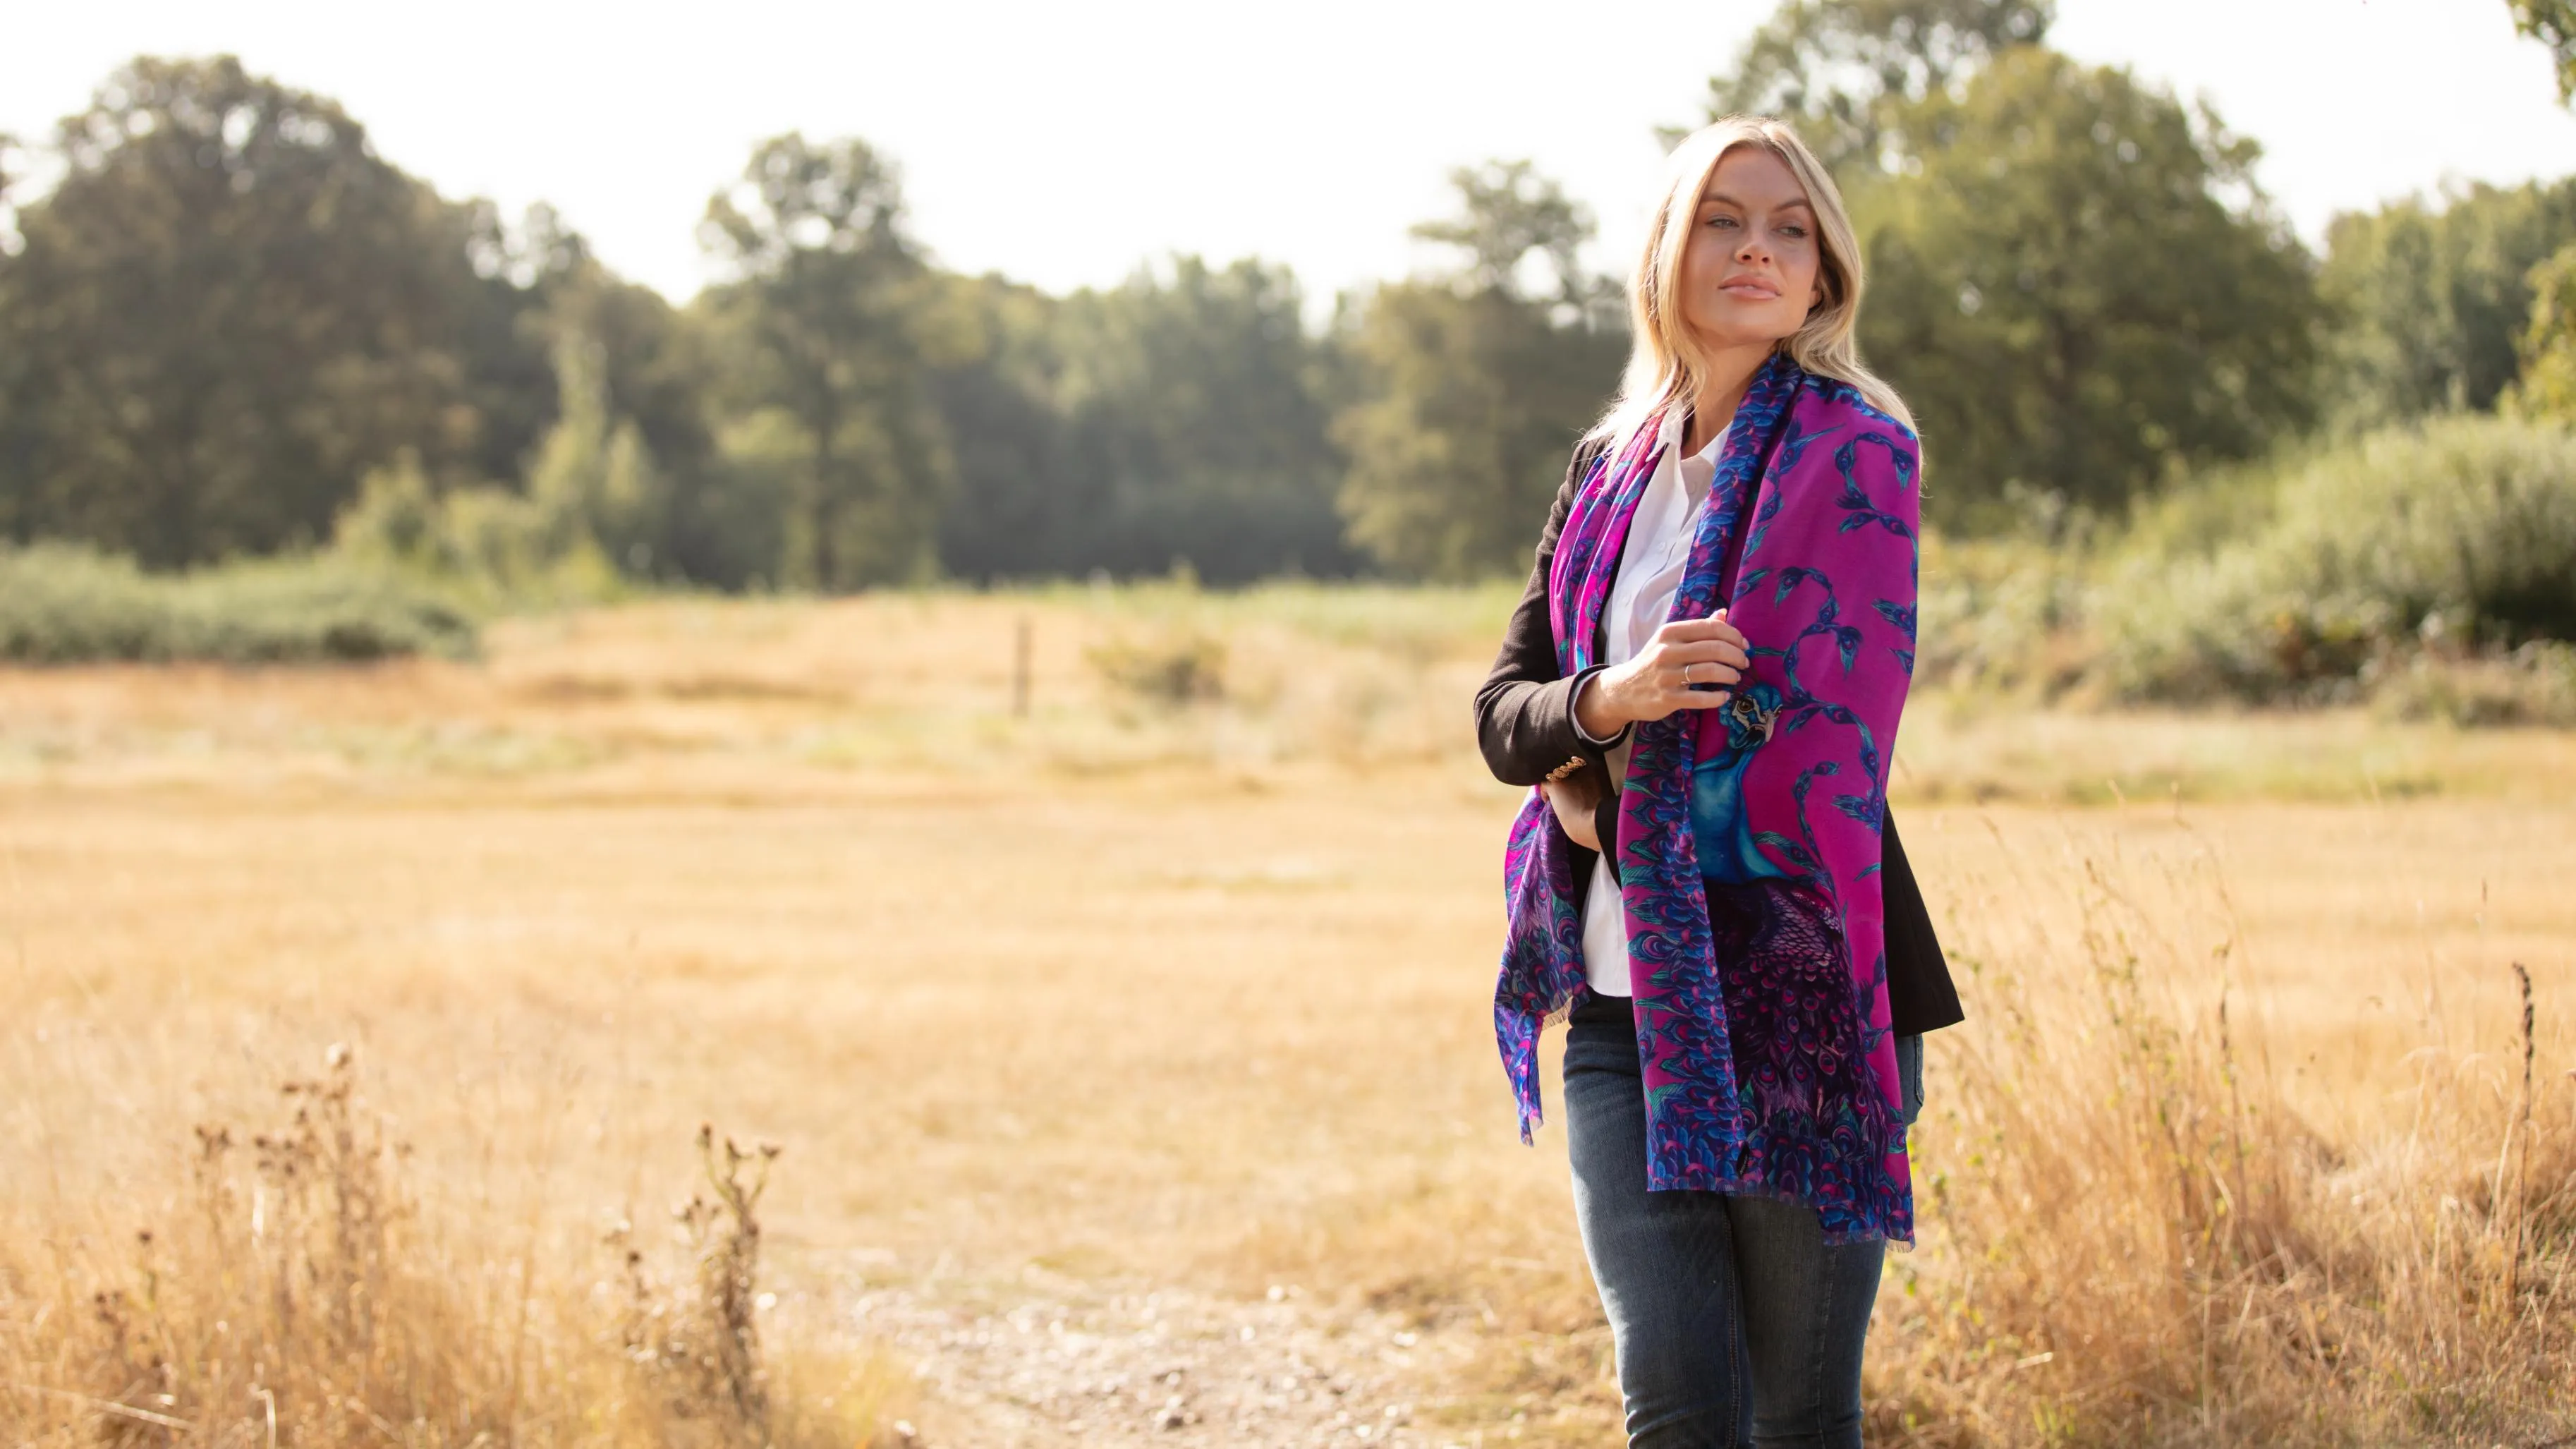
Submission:
[[[773,1147],[701,1129],[683,1266],[629,1225],[598,1274],[538,1261],[410,1191],[410,1150],[332,1047],[291,1119],[198,1127],[183,1209],[124,1250],[70,1225],[0,1248],[10,1444],[866,1444],[896,1377],[762,1354],[757,1201]],[[608,1261],[621,1276],[608,1289]]]

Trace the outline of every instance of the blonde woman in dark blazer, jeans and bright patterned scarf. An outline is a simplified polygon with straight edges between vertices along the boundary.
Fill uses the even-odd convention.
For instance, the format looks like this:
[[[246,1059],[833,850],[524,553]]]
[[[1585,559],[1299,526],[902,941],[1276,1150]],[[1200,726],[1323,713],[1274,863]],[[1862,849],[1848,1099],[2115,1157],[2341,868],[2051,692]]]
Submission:
[[[1571,1011],[1574,1207],[1641,1449],[1860,1444],[1919,1034],[1960,1018],[1886,815],[1922,469],[1860,278],[1788,126],[1672,152],[1620,397],[1476,694],[1494,773],[1540,786],[1494,1026],[1528,1137]]]

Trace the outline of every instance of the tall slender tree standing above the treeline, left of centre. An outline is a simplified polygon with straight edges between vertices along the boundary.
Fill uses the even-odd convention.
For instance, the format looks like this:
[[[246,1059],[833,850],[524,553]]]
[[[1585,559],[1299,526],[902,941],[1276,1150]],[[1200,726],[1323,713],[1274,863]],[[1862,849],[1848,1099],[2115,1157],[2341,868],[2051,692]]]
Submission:
[[[788,495],[783,578],[930,572],[951,467],[925,369],[938,284],[894,168],[858,139],[768,139],[708,201],[701,240],[734,273],[701,307],[729,364],[737,459]]]

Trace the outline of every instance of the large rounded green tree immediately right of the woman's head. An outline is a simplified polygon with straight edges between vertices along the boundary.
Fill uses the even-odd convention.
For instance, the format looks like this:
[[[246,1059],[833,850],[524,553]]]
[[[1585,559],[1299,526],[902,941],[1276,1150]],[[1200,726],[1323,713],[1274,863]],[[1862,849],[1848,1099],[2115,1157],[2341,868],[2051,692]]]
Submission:
[[[1909,126],[1940,144],[1862,196],[1860,322],[1945,521],[2002,523],[2022,495],[2120,508],[2311,420],[2321,309],[2251,142],[2038,46]]]

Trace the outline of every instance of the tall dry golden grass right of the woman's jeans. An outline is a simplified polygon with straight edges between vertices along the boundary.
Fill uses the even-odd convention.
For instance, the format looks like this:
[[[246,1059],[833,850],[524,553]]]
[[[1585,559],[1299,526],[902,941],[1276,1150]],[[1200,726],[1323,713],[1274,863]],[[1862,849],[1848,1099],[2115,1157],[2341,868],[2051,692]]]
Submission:
[[[2530,972],[2509,1052],[2427,1042],[2388,1129],[2331,1140],[2246,1011],[2223,884],[2138,874],[2081,861],[2074,938],[2009,900],[1953,926],[1976,1018],[1935,1036],[1886,1441],[2576,1434],[2576,1073],[2540,1065]]]

